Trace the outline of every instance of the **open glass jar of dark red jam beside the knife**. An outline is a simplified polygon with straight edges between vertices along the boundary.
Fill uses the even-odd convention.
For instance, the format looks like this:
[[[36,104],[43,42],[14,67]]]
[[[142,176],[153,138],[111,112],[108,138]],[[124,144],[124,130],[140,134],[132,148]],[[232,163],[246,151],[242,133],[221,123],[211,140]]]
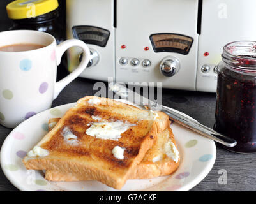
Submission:
[[[237,141],[234,152],[256,152],[256,41],[223,48],[218,65],[214,129]]]

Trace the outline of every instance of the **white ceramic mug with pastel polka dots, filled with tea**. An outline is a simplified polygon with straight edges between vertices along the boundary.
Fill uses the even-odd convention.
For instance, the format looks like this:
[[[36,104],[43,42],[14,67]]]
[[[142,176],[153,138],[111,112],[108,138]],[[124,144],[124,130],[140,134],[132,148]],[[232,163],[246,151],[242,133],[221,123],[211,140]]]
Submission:
[[[59,92],[84,71],[90,58],[89,48],[80,40],[56,45],[54,36],[40,31],[0,33],[0,47],[26,43],[45,47],[22,52],[0,51],[0,124],[8,128],[49,109]],[[61,56],[73,46],[82,48],[84,57],[77,69],[56,82]]]

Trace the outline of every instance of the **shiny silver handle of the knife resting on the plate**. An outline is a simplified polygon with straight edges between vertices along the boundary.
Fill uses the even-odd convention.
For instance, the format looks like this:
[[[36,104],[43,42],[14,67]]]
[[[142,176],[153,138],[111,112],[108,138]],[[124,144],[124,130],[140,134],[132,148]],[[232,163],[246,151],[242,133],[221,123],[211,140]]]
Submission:
[[[190,117],[186,117],[180,113],[174,112],[167,106],[162,106],[162,112],[165,112],[167,115],[169,115],[170,119],[174,120],[174,122],[177,122],[186,128],[192,129],[200,135],[204,135],[207,138],[214,140],[215,142],[221,143],[227,147],[234,147],[236,145],[236,140],[222,135],[215,130],[208,128],[207,126],[200,124],[196,120],[191,119]]]

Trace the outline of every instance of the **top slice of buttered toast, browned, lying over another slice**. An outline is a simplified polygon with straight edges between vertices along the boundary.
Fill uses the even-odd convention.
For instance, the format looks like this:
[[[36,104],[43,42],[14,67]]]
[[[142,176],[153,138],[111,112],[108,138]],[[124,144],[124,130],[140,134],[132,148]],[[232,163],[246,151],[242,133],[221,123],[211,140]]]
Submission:
[[[86,96],[31,150],[27,169],[84,175],[121,189],[156,141],[156,113]]]

